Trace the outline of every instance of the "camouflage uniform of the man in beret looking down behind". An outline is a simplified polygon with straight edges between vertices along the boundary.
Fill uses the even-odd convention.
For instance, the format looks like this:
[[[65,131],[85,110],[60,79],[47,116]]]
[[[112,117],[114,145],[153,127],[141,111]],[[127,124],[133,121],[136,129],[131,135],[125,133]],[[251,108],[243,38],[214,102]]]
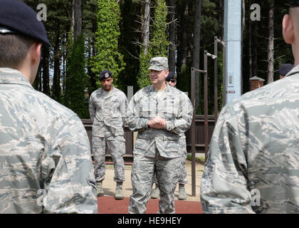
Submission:
[[[123,126],[127,111],[125,93],[113,86],[107,96],[103,88],[95,90],[90,96],[90,118],[93,120],[93,157],[95,159],[95,180],[105,179],[106,143],[114,162],[115,182],[125,181],[125,154]]]

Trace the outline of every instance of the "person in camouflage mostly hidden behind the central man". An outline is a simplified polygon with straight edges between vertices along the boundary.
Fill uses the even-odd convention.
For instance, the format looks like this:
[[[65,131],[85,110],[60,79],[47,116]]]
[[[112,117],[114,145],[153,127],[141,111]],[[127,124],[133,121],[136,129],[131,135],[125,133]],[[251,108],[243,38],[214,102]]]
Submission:
[[[165,78],[169,86],[175,87],[177,85],[177,74],[174,72],[169,72],[167,78]],[[178,172],[182,172],[181,178],[179,179],[179,196],[177,197],[180,200],[187,199],[187,193],[185,190],[185,185],[187,185],[187,170],[186,170],[186,159],[187,159],[187,145],[186,145],[186,136],[182,133],[179,137],[179,145],[182,146],[182,155],[181,155],[181,164],[182,167],[179,168]],[[158,199],[160,196],[159,185],[157,182],[157,178],[154,175],[154,184],[156,185],[154,191],[152,192],[151,198]]]

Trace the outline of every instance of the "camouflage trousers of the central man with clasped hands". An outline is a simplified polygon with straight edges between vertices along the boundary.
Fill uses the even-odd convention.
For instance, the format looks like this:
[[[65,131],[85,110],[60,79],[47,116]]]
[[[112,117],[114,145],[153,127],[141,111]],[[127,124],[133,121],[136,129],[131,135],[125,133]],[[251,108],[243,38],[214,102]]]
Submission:
[[[179,157],[145,157],[135,155],[132,168],[132,189],[129,213],[143,214],[147,209],[154,173],[160,190],[159,213],[174,214],[174,190],[179,179]]]

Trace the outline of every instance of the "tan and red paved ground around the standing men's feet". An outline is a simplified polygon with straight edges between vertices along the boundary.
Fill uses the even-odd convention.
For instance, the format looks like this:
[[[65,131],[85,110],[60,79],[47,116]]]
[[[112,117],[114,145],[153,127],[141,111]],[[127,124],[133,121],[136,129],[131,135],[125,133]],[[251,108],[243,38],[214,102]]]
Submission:
[[[196,196],[192,196],[192,167],[191,162],[187,160],[187,179],[188,184],[185,185],[187,192],[187,200],[176,200],[175,209],[177,214],[199,214],[201,213],[201,204],[199,198],[201,175],[204,170],[204,165],[196,162]],[[116,183],[113,181],[114,169],[112,165],[106,165],[106,175],[103,181],[104,197],[98,197],[98,210],[101,214],[127,214],[127,207],[129,206],[130,195],[132,194],[131,185],[131,170],[132,166],[126,165],[125,178],[123,184],[123,191],[125,199],[115,200]],[[174,194],[177,199],[178,185]],[[159,199],[150,199],[147,204],[147,213],[155,214],[159,211]]]

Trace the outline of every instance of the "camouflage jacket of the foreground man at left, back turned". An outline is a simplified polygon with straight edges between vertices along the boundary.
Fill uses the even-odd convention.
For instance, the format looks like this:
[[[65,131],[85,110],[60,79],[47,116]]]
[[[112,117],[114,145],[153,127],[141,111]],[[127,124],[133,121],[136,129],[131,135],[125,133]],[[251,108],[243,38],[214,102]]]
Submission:
[[[0,161],[0,213],[98,212],[81,120],[11,68],[0,68]]]

